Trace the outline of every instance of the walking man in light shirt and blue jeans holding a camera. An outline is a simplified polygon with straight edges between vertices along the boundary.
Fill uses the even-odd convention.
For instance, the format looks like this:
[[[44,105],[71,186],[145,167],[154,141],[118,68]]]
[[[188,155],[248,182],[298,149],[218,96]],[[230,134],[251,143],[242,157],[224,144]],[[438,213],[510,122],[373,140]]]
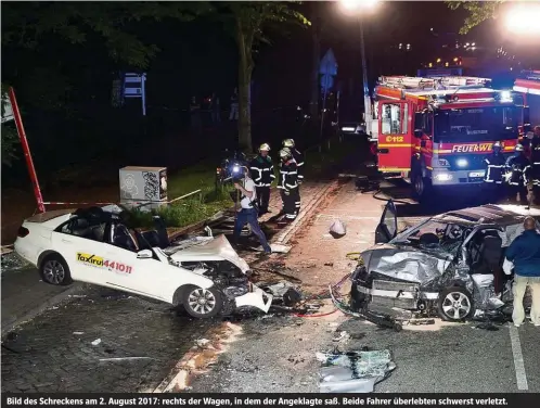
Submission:
[[[234,221],[234,232],[233,232],[233,243],[237,243],[242,228],[246,224],[252,227],[252,232],[259,239],[260,244],[265,254],[271,254],[272,248],[268,244],[265,232],[260,229],[259,221],[257,219],[257,208],[254,206],[254,202],[257,200],[257,191],[255,189],[255,182],[249,177],[249,170],[247,167],[242,167],[242,184],[240,182],[234,183],[234,188],[240,191],[240,206],[241,209],[236,214],[236,219]]]

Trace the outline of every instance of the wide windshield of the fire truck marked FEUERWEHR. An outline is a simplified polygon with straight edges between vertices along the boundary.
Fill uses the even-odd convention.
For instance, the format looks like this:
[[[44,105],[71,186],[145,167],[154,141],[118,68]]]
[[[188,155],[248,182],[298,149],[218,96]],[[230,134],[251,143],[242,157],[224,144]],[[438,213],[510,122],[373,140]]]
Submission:
[[[442,110],[435,115],[436,142],[476,142],[517,139],[515,106]]]

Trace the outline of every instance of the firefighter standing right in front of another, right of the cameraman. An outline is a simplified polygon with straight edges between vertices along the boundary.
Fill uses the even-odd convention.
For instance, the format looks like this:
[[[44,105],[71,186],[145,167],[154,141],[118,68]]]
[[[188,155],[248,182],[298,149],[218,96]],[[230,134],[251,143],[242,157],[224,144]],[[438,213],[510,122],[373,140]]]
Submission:
[[[281,168],[278,189],[281,191],[283,201],[284,222],[290,222],[296,218],[296,202],[298,199],[298,171],[293,153],[288,148],[280,150]]]

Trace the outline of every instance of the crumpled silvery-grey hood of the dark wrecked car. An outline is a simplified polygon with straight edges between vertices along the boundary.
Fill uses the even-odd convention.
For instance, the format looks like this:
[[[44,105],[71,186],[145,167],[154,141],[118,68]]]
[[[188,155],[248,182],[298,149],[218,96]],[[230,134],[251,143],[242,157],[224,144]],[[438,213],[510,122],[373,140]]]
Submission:
[[[368,273],[426,284],[440,277],[451,265],[453,255],[441,248],[380,244],[361,253]]]

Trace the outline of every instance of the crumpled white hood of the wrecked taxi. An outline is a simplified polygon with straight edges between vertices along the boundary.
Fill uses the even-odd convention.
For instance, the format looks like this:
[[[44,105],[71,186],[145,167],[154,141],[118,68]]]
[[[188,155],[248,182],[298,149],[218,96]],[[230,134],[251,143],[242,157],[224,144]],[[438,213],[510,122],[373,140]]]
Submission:
[[[192,243],[189,247],[183,245],[170,246],[165,252],[175,262],[229,260],[244,273],[249,270],[249,265],[239,256],[224,235],[202,237],[198,240],[192,240]]]

